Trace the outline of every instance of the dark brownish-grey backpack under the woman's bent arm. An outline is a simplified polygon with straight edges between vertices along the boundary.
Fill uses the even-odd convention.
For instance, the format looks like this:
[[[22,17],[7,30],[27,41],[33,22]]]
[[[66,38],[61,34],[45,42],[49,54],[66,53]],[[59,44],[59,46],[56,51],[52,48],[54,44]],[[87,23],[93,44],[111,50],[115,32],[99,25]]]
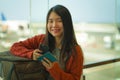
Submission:
[[[6,72],[7,75],[4,74],[6,69],[2,71],[4,80],[47,80],[49,75],[41,62],[14,56],[9,51],[0,53],[0,61],[2,68],[8,62],[12,64],[8,66],[11,68]]]

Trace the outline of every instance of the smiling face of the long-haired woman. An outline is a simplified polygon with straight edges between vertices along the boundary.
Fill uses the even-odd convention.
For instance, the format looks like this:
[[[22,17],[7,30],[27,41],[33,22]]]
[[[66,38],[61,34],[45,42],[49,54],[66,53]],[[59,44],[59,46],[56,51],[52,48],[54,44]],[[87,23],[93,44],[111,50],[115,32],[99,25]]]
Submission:
[[[48,18],[47,28],[49,33],[55,38],[61,38],[63,35],[62,19],[55,12],[51,12]]]

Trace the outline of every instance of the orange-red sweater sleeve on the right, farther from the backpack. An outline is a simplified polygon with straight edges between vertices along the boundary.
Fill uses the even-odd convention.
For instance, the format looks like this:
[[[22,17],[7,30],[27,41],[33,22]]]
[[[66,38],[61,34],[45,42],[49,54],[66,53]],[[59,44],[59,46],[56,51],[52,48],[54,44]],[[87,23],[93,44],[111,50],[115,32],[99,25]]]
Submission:
[[[76,58],[71,57],[67,63],[66,72],[62,70],[58,63],[49,69],[49,73],[54,80],[80,80],[83,71],[83,53],[79,46],[77,46]]]

